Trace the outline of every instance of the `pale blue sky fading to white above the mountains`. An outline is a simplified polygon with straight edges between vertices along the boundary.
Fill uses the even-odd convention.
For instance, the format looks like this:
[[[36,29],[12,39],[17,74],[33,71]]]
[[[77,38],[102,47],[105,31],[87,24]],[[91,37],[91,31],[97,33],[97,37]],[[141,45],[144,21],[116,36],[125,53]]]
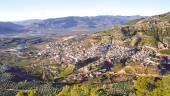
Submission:
[[[0,0],[0,21],[66,16],[144,15],[170,11],[170,0]]]

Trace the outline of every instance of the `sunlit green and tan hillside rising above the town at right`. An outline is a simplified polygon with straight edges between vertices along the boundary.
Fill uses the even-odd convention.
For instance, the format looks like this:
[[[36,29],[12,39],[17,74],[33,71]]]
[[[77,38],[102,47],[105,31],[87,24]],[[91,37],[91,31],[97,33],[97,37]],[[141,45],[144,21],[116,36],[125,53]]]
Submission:
[[[166,49],[170,45],[170,13],[127,22],[122,30],[126,36],[140,38],[140,46]]]

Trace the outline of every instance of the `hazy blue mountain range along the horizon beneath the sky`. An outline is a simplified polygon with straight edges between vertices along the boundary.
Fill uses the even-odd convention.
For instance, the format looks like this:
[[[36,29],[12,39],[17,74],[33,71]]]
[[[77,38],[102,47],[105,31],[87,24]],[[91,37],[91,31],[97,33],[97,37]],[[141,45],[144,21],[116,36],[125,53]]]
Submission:
[[[11,33],[84,33],[110,29],[142,16],[92,16],[32,19],[18,22],[0,22],[0,34]]]

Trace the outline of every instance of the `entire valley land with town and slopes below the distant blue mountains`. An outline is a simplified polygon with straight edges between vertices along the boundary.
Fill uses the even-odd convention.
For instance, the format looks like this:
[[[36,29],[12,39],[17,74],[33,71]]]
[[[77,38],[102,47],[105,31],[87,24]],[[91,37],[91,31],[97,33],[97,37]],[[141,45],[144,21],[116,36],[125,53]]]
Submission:
[[[170,90],[170,13],[95,33],[2,38],[0,46],[2,96],[159,96],[148,94]],[[156,87],[147,89],[150,83]]]

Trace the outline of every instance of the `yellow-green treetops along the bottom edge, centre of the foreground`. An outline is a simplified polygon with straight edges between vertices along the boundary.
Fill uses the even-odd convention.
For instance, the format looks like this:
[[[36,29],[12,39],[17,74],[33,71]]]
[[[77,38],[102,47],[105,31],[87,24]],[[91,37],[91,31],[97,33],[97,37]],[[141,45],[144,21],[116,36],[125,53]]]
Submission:
[[[130,90],[129,82],[110,83],[109,85],[82,83],[64,86],[57,96],[128,96]]]

